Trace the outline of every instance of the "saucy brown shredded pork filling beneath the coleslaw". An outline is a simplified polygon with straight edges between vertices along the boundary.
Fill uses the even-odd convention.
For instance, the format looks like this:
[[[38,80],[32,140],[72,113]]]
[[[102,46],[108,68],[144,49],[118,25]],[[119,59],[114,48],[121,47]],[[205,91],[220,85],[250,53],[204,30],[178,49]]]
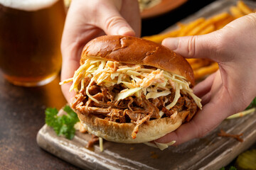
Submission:
[[[146,99],[142,94],[141,98],[129,96],[119,101],[114,101],[114,96],[122,91],[122,84],[111,87],[98,86],[92,84],[89,87],[89,93],[93,98],[100,101],[96,103],[87,97],[84,90],[81,90],[75,96],[73,108],[76,108],[80,113],[93,114],[105,120],[114,121],[117,123],[135,123],[136,127],[132,132],[132,137],[135,138],[139,130],[139,125],[149,120],[161,118],[160,111],[164,113],[162,117],[171,117],[174,113],[182,112],[183,120],[189,121],[197,111],[197,105],[191,96],[181,94],[176,105],[168,110],[168,106],[174,100],[175,91],[171,91],[168,96],[160,96],[159,98]]]

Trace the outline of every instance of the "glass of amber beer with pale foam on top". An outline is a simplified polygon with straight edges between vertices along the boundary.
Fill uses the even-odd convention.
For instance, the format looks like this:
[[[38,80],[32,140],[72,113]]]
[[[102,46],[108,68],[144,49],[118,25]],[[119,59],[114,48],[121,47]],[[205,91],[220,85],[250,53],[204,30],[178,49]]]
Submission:
[[[0,0],[0,69],[18,86],[48,84],[60,72],[63,0]]]

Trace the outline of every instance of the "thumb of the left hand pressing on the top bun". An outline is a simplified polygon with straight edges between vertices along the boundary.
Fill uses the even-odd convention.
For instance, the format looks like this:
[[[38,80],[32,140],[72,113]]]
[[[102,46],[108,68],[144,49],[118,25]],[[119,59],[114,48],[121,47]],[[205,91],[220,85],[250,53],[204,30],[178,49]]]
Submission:
[[[107,35],[130,35],[134,36],[135,32],[129,26],[129,23],[120,15],[117,8],[110,6],[105,8],[102,15],[99,17],[99,27],[105,31]],[[103,14],[104,13],[104,14]]]

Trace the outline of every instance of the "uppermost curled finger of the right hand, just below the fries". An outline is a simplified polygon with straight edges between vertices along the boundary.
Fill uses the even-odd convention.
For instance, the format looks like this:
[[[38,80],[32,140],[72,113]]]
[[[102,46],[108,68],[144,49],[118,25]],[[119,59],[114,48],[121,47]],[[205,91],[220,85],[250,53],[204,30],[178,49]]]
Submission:
[[[196,94],[199,98],[202,98],[205,96],[211,89],[211,86],[213,85],[213,80],[215,78],[215,73],[210,74],[209,77],[207,77],[205,80],[201,81],[198,83],[194,88],[193,88],[193,93]]]

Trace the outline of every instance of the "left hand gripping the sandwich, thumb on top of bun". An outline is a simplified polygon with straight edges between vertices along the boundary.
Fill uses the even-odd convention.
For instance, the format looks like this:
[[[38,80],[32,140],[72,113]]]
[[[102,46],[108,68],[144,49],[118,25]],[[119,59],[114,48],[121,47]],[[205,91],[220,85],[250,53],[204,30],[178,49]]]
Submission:
[[[137,0],[73,0],[68,10],[61,41],[61,81],[73,77],[80,66],[82,47],[100,35],[140,36],[141,18]],[[68,103],[75,95],[71,83],[61,89]]]

